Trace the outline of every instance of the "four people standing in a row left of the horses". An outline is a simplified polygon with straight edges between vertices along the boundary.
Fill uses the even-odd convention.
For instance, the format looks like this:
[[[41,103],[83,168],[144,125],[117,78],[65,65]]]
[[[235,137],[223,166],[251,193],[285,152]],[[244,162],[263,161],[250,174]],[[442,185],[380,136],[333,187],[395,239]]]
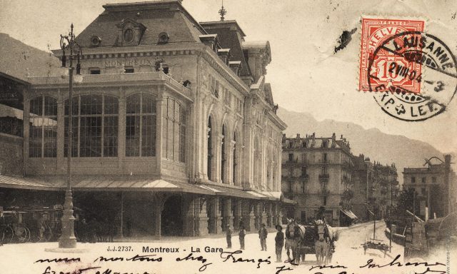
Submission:
[[[281,225],[276,225],[276,237],[275,240],[275,251],[276,251],[276,263],[280,263],[281,254],[283,252],[284,246],[284,233],[282,232],[283,228]],[[231,235],[233,231],[230,228],[230,225],[227,225],[226,229],[226,240],[227,248],[231,248]],[[240,249],[244,250],[244,237],[246,236],[246,229],[244,225],[240,225],[238,231],[238,237],[240,240]],[[268,230],[266,230],[266,225],[262,223],[261,228],[258,230],[258,238],[260,239],[261,251],[266,251],[266,238],[268,236]]]

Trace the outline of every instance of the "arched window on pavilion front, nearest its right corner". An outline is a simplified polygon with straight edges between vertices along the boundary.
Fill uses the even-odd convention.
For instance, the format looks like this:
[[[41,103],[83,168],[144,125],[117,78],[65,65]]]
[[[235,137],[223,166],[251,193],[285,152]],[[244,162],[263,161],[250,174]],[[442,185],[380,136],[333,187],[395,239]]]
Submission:
[[[151,94],[127,97],[126,156],[156,156],[156,100]]]

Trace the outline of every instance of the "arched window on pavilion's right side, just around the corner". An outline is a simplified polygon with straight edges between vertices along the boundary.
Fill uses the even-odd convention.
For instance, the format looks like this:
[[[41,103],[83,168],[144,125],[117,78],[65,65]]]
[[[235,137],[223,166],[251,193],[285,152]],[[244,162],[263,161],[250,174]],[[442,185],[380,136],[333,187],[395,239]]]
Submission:
[[[174,98],[166,99],[163,156],[173,161],[186,161],[186,111]]]

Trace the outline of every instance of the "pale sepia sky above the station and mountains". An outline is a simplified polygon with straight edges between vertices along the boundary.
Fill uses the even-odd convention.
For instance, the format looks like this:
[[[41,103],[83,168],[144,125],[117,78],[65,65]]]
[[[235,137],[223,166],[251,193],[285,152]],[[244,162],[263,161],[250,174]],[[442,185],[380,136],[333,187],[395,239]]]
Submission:
[[[79,34],[103,4],[120,2],[133,1],[0,0],[0,32],[38,49],[58,49],[72,22]],[[219,20],[221,0],[184,0],[183,6],[197,21]],[[455,54],[457,1],[225,0],[224,7],[226,20],[238,21],[246,41],[270,42],[266,78],[279,106],[426,141],[443,153],[457,151],[457,98],[436,117],[405,122],[381,111],[373,94],[357,90],[361,16],[423,19],[426,32]],[[352,29],[348,46],[334,54],[339,36]]]

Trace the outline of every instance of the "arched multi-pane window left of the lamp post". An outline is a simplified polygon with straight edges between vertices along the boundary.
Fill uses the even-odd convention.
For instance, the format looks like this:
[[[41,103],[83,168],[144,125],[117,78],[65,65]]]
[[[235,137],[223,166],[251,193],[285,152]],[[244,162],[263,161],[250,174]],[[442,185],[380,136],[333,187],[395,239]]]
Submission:
[[[57,100],[39,96],[30,101],[29,156],[57,156]]]

